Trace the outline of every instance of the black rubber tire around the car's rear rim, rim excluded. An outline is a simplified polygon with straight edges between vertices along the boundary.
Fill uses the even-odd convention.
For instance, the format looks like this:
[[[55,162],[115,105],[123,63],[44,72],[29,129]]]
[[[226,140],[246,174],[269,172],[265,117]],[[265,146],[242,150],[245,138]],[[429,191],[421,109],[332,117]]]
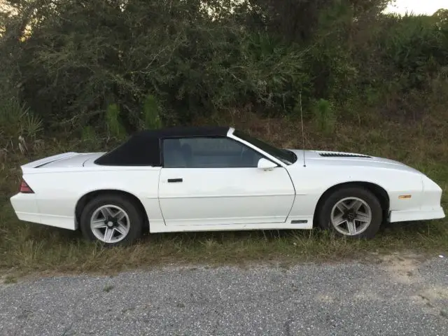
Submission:
[[[125,211],[129,218],[129,232],[120,241],[113,243],[106,243],[97,237],[95,237],[92,229],[90,228],[90,218],[94,214],[94,211],[99,209],[104,205],[111,204],[116,207],[120,207]],[[104,194],[95,197],[93,200],[88,202],[80,216],[80,230],[83,232],[83,236],[90,241],[98,241],[104,246],[129,246],[133,244],[137,239],[139,239],[143,232],[144,216],[142,216],[141,211],[129,197],[125,195],[118,194]]]

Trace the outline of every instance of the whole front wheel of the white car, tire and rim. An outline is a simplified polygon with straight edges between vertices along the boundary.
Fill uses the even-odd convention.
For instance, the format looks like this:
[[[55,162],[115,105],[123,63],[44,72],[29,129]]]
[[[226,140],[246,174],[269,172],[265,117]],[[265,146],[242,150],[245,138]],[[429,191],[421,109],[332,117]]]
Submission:
[[[383,217],[377,197],[361,187],[336,190],[325,198],[320,210],[321,228],[350,238],[373,238]]]

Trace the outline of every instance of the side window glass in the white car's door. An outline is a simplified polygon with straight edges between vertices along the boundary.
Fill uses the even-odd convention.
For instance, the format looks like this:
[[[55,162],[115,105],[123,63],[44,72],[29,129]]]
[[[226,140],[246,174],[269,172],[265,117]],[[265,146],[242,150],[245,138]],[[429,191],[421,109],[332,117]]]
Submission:
[[[183,138],[163,141],[165,167],[257,167],[262,156],[227,138]]]

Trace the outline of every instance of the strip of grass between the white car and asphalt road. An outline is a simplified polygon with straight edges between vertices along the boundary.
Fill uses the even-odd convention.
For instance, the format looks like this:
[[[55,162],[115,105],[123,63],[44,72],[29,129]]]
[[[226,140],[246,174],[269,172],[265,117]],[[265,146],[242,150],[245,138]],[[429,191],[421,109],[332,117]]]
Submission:
[[[8,204],[1,208],[0,269],[28,272],[116,272],[167,263],[241,264],[249,261],[335,261],[370,253],[446,253],[446,221],[388,225],[375,239],[351,241],[321,230],[188,232],[146,235],[126,248],[102,248],[79,232],[20,223]],[[7,214],[7,216],[4,216]],[[6,225],[5,225],[6,223]]]

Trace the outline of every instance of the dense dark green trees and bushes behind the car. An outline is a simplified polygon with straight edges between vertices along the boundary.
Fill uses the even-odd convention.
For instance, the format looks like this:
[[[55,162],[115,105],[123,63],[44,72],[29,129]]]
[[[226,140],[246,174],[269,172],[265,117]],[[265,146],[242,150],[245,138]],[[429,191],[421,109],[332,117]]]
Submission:
[[[300,93],[323,130],[368,107],[415,117],[447,85],[447,12],[402,18],[387,2],[6,1],[0,133],[293,115]]]

